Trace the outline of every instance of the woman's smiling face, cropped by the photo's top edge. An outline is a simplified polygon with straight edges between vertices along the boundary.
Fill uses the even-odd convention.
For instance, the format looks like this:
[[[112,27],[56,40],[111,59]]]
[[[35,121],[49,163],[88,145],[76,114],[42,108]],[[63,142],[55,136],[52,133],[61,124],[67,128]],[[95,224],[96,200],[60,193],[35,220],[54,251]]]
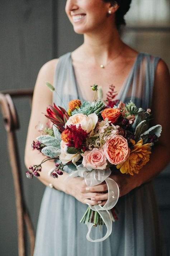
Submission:
[[[110,3],[102,0],[67,0],[65,11],[79,34],[100,30],[107,24]]]

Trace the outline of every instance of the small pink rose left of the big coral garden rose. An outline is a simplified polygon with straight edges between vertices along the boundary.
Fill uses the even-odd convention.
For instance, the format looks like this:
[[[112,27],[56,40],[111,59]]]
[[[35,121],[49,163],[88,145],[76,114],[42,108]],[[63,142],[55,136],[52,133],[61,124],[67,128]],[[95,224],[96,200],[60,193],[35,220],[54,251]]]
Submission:
[[[107,159],[102,149],[93,148],[93,150],[87,150],[83,154],[82,164],[86,168],[104,170],[107,166]]]

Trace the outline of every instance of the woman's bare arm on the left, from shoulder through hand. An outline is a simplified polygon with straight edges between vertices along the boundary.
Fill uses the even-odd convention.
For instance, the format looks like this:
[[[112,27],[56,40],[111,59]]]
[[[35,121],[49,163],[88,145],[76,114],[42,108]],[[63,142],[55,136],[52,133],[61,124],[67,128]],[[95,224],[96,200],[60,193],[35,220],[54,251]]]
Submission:
[[[33,95],[32,112],[29,121],[27,142],[25,146],[25,166],[27,169],[29,169],[30,165],[41,163],[41,161],[45,158],[45,156],[43,156],[40,152],[33,150],[31,144],[33,140],[39,136],[38,131],[35,129],[35,126],[38,124],[38,122],[41,122],[44,127],[46,127],[46,123],[49,121],[43,113],[46,113],[48,105],[53,103],[52,92],[48,89],[45,83],[48,81],[53,84],[53,77],[57,61],[57,59],[54,59],[47,62],[42,66],[38,73]],[[59,176],[58,179],[54,179],[51,176],[48,176],[48,172],[54,166],[55,164],[53,160],[49,160],[43,163],[40,177],[38,177],[42,183],[44,183],[46,186],[51,183],[54,188],[74,196],[82,203],[90,203],[91,205],[97,205],[100,203],[90,200],[94,193],[86,190],[86,184],[83,178],[72,178],[65,180],[66,176],[68,175],[67,172],[63,172],[63,175]],[[95,193],[95,195],[99,194]]]

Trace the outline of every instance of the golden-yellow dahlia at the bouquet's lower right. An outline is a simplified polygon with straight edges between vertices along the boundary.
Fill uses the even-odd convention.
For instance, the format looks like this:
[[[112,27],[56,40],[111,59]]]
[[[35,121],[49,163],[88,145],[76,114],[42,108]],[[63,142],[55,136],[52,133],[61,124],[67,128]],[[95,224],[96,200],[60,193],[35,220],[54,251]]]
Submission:
[[[120,169],[122,173],[131,174],[133,172],[139,173],[139,170],[146,165],[149,161],[150,154],[151,154],[151,143],[143,144],[143,140],[139,140],[136,144],[134,140],[131,140],[134,145],[133,150],[131,151],[127,160],[123,163],[117,165],[117,169]]]

